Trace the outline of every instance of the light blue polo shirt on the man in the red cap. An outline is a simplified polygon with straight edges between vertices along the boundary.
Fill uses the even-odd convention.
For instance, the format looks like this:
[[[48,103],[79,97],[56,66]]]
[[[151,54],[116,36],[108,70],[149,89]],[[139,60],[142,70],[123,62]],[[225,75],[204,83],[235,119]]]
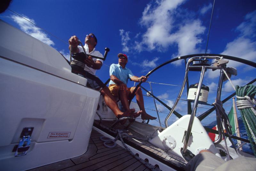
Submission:
[[[123,69],[122,66],[119,65],[119,63],[118,64],[113,63],[112,65],[110,65],[109,76],[110,75],[116,76],[120,81],[122,81],[126,85],[128,83],[128,78],[131,79],[131,77],[134,76],[130,69],[126,67]],[[110,80],[109,85],[111,84],[116,84],[116,83]]]

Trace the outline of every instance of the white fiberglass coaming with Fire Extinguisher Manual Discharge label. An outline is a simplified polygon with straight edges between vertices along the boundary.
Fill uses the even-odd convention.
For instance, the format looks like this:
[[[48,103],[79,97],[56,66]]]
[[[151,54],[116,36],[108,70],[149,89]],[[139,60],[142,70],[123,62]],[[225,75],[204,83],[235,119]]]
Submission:
[[[1,168],[26,170],[86,152],[100,93],[54,48],[2,20],[0,28]],[[33,130],[31,144],[15,157],[24,128]]]

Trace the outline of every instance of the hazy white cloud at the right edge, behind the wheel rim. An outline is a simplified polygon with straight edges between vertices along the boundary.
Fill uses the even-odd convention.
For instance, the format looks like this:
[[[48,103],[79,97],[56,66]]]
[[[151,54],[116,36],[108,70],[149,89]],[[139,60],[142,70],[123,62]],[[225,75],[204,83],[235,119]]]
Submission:
[[[256,41],[252,41],[250,38],[255,36],[256,26],[256,11],[248,13],[245,16],[245,21],[241,23],[236,30],[241,34],[231,42],[228,42],[224,51],[220,54],[235,56],[243,58],[249,61],[256,62]],[[236,61],[229,60],[228,67],[239,67],[243,65]],[[210,71],[207,73],[208,77],[216,78],[219,76],[220,71]]]

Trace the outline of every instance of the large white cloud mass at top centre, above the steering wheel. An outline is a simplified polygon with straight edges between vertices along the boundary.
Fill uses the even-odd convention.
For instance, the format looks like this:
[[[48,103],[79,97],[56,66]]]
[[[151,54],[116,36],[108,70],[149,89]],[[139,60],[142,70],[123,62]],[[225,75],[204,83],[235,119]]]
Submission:
[[[178,52],[173,57],[203,52],[198,47],[198,44],[202,42],[199,35],[205,31],[201,21],[189,19],[190,16],[187,14],[184,15],[185,17],[177,14],[179,5],[184,1],[160,0],[149,3],[142,12],[139,21],[140,25],[146,27],[147,30],[141,33],[142,40],[134,41],[130,48],[137,52],[144,50],[165,51],[173,45],[178,47]],[[179,24],[174,25],[176,22]],[[138,34],[135,37],[138,38]],[[179,62],[176,62],[176,65],[179,65]]]

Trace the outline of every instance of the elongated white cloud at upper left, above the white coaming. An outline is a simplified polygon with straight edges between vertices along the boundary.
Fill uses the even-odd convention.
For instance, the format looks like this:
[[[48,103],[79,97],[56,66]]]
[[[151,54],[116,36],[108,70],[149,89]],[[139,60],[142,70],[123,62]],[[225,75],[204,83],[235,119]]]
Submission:
[[[30,22],[35,23],[33,19],[29,19],[28,17],[23,16],[25,19],[29,20]],[[20,29],[24,31],[25,33],[28,33],[29,35],[35,37],[36,39],[44,42],[45,44],[49,46],[53,46],[54,42],[48,37],[47,34],[45,34],[40,28],[33,25],[32,23],[28,22],[27,20],[12,15],[11,18],[20,26]]]

